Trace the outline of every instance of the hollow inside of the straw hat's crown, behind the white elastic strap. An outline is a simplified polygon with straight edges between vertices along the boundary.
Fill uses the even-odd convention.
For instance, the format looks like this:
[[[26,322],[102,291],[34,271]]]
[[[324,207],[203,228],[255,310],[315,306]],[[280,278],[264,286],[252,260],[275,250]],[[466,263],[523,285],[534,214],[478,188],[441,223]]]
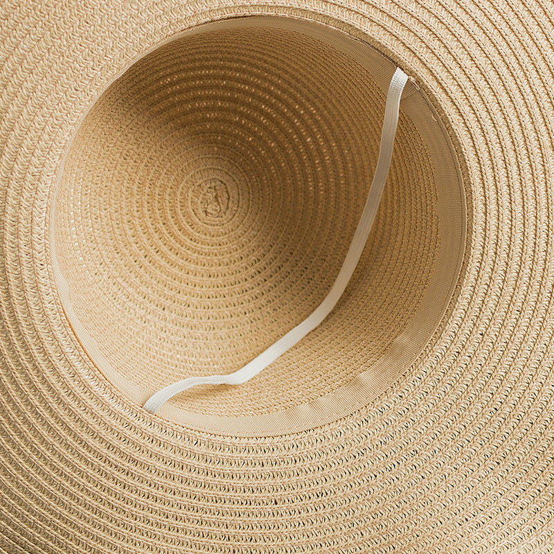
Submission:
[[[55,256],[73,329],[126,395],[231,373],[319,305],[373,177],[391,67],[332,28],[242,18],[162,44],[96,100],[56,193]],[[415,339],[396,373],[425,348],[465,215],[451,148],[418,101],[427,111],[401,113],[373,231],[328,321],[252,382],[186,391],[170,410],[278,413],[377,368],[403,334]]]

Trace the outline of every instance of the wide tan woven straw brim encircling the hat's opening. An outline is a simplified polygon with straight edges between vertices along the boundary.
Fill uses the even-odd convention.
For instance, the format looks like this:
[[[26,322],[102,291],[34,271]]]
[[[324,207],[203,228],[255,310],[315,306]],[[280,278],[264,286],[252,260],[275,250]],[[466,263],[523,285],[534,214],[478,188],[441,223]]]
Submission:
[[[551,9],[3,3],[0,551],[554,551]],[[48,201],[129,60],[193,24],[276,13],[348,22],[413,75],[456,146],[470,237],[447,321],[377,399],[295,434],[217,436],[102,379],[53,286]]]

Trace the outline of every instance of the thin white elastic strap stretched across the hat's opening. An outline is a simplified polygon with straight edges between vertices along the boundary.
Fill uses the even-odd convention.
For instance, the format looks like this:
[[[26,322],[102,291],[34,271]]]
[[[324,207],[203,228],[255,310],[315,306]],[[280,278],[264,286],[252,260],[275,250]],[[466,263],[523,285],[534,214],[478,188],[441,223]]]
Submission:
[[[249,379],[258,375],[260,371],[272,364],[280,355],[283,355],[289,348],[292,348],[298,341],[301,341],[306,334],[314,330],[330,314],[334,306],[341,298],[356,266],[359,262],[362,251],[366,245],[371,227],[377,214],[377,208],[382,197],[382,192],[388,175],[388,169],[391,166],[393,155],[393,145],[398,123],[398,113],[400,109],[400,97],[404,90],[404,85],[408,76],[400,68],[397,68],[391,83],[388,87],[386,96],[386,105],[384,113],[383,129],[381,134],[381,143],[379,145],[379,157],[375,175],[370,186],[364,211],[354,233],[354,238],[350,243],[348,253],[343,262],[341,270],[334,281],[330,292],[319,307],[310,314],[302,323],[287,332],[284,337],[273,343],[264,350],[258,357],[254,358],[243,368],[230,373],[229,375],[208,375],[205,377],[187,377],[181,381],[172,383],[154,393],[144,404],[144,408],[151,413],[156,413],[159,408],[171,397],[186,391],[188,388],[202,384],[230,384],[237,385],[247,382]]]

